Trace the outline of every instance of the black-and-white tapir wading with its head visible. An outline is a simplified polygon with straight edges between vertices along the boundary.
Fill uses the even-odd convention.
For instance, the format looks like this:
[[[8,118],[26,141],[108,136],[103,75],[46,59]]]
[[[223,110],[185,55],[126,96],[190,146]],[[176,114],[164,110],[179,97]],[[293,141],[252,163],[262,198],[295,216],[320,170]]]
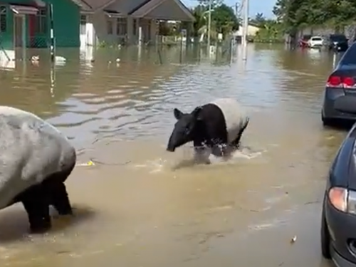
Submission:
[[[184,113],[174,108],[174,125],[169,137],[167,151],[174,152],[187,142],[193,142],[197,159],[229,156],[229,152],[239,147],[241,136],[246,130],[249,118],[241,105],[231,98],[219,98]],[[206,155],[208,148],[209,155]],[[205,160],[203,158],[203,160]]]

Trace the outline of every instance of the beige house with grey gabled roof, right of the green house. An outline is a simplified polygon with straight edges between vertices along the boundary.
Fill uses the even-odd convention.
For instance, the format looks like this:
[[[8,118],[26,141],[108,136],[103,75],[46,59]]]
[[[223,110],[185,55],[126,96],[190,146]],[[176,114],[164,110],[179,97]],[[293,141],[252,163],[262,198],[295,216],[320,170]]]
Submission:
[[[158,21],[194,21],[180,0],[78,0],[81,46],[155,43]]]

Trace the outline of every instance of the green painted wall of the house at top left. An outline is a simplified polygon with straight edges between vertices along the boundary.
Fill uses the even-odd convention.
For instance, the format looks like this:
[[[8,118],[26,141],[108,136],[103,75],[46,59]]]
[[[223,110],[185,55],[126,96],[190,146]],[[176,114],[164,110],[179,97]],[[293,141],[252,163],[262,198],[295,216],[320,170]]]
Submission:
[[[53,4],[53,26],[57,47],[80,46],[80,9],[71,0],[44,0],[47,4]],[[30,4],[30,0],[1,0],[1,3]],[[49,10],[47,10],[49,11]],[[48,13],[47,13],[48,14]],[[26,18],[27,46],[34,44],[37,48],[46,48],[50,43],[50,20],[48,16],[47,30],[45,34],[36,34],[30,38],[28,34],[28,18]],[[0,33],[1,45],[5,49],[14,48],[14,13],[7,9],[6,32]]]

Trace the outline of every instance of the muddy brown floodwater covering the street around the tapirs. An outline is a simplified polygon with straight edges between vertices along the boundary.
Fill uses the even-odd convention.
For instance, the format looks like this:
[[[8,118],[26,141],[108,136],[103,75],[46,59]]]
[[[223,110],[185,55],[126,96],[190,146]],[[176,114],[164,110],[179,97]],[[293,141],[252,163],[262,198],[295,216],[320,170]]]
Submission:
[[[31,236],[21,205],[1,211],[0,266],[329,266],[321,201],[346,132],[323,128],[320,105],[335,58],[251,45],[244,64],[240,52],[112,50],[90,63],[63,51],[54,82],[44,60],[1,70],[1,105],[45,117],[79,156],[75,218],[54,213],[53,230]],[[251,114],[243,151],[195,166],[189,146],[166,152],[173,108],[219,97]]]

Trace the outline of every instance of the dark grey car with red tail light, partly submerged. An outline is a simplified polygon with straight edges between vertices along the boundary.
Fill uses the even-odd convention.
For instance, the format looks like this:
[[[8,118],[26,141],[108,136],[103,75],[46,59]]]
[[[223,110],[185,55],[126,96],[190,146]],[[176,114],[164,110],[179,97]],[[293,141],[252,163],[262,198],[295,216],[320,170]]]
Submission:
[[[356,120],[356,43],[347,49],[328,78],[321,118],[324,125]]]

